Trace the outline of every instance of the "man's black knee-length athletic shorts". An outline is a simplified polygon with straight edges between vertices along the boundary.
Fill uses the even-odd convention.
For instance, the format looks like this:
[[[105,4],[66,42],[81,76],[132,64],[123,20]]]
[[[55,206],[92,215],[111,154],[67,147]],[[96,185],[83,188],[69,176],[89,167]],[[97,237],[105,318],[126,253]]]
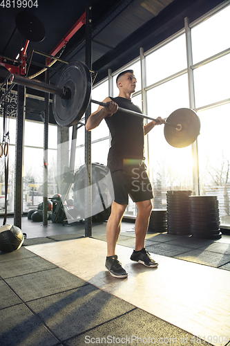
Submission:
[[[125,170],[115,170],[111,177],[116,203],[128,204],[128,195],[133,202],[153,199],[153,188],[143,161],[140,165],[131,165]]]

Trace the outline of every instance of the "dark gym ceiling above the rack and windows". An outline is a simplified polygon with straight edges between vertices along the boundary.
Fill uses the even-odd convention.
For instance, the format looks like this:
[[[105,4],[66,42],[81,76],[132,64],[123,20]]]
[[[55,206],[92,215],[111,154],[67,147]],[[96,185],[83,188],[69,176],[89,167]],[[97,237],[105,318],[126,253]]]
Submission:
[[[97,71],[96,82],[131,62],[144,51],[159,44],[184,27],[184,17],[190,22],[198,19],[209,10],[226,0],[92,0],[92,69]],[[20,1],[21,4],[26,0]],[[38,6],[17,8],[18,1],[0,0],[0,56],[15,59],[26,44],[26,38],[19,33],[15,17],[21,11],[36,15],[46,30],[41,42],[30,41],[27,48],[28,60],[32,50],[49,54],[60,40],[82,17],[88,0],[30,0]],[[27,0],[27,3],[29,1]],[[7,5],[8,4],[8,5]],[[5,5],[5,7],[3,7]],[[7,7],[8,6],[8,7]],[[68,41],[61,54],[61,60],[85,62],[85,34],[83,25]],[[58,56],[58,55],[57,55]],[[165,57],[169,60],[170,57]],[[28,76],[40,71],[45,57],[32,55]],[[64,64],[56,62],[50,70],[50,83],[55,84]],[[0,67],[0,76],[5,68]],[[5,71],[6,73],[6,71]],[[37,77],[44,81],[44,73]],[[1,78],[0,82],[3,82]],[[32,91],[37,93],[36,91]]]

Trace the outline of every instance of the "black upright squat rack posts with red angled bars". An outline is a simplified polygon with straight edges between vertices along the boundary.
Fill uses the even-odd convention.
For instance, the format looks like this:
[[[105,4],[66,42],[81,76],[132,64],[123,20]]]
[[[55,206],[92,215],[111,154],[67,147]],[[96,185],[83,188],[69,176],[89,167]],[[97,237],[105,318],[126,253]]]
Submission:
[[[90,71],[92,70],[92,15],[91,15],[91,6],[86,6],[86,12],[79,20],[75,23],[75,25],[68,31],[68,33],[64,36],[64,39],[61,39],[59,44],[50,52],[50,55],[47,55],[46,65],[50,63],[50,61],[55,58],[55,55],[63,48],[68,40],[73,37],[73,35],[82,27],[83,24],[86,24],[86,65]],[[17,75],[25,75],[26,74],[26,50],[28,48],[29,40],[26,39],[26,44],[21,51],[21,61],[11,61],[6,57],[0,57],[1,65],[5,66],[6,69],[10,73],[14,73]],[[56,60],[59,60],[58,58]],[[30,60],[31,61],[31,60]],[[15,63],[17,62],[17,66]],[[46,83],[49,82],[49,71],[46,71]],[[8,78],[7,78],[8,79]],[[7,80],[6,79],[6,80]],[[5,81],[6,82],[6,81]],[[4,82],[4,83],[5,83]],[[4,84],[3,83],[3,84]],[[12,84],[9,89],[15,84]],[[3,85],[1,86],[1,89]],[[8,89],[7,93],[3,95],[0,99],[0,104],[6,95],[10,92]],[[15,202],[14,202],[14,224],[21,228],[21,215],[23,210],[23,132],[24,132],[24,120],[25,120],[25,103],[26,103],[26,93],[25,86],[18,85],[17,86],[17,125],[16,125],[16,141],[15,141]],[[44,117],[44,203],[43,203],[43,226],[48,225],[47,219],[47,194],[48,194],[48,121],[49,121],[49,93],[45,94],[45,117]],[[90,116],[91,107],[89,105],[85,121],[87,121],[88,116]],[[73,143],[77,137],[77,126],[73,126]],[[71,146],[70,153],[70,168],[73,167],[73,155],[75,156],[75,148]],[[71,162],[72,160],[72,162]],[[85,208],[86,215],[91,215],[91,203],[92,203],[92,170],[91,170],[91,136],[89,131],[85,131],[85,164],[87,167],[86,177],[85,177]],[[61,202],[62,203],[62,202]],[[92,235],[92,217],[88,217],[85,220],[85,236],[88,237]]]

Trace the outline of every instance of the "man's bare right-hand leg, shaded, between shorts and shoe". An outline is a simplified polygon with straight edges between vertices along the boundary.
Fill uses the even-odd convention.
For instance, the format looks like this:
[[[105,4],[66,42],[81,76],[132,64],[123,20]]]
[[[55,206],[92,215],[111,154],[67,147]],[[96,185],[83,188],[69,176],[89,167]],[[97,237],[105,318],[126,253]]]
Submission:
[[[144,240],[148,230],[149,217],[153,207],[151,200],[137,202],[136,205],[138,212],[135,221],[135,251],[140,251],[142,248],[144,248]]]

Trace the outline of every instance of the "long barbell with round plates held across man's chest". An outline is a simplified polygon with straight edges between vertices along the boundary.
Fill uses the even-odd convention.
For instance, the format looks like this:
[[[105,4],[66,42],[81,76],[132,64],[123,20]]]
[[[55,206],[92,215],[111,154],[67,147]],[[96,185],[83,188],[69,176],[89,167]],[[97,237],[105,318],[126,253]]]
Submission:
[[[12,82],[29,86],[32,89],[52,93],[52,112],[58,125],[70,127],[76,125],[86,112],[90,102],[92,82],[88,67],[75,61],[67,64],[61,71],[55,86],[30,80],[20,75],[12,75]],[[108,107],[108,104],[91,100],[95,104]],[[140,116],[158,122],[142,113],[118,108],[123,113]],[[173,147],[187,147],[195,142],[200,134],[200,119],[189,108],[180,108],[173,111],[166,119],[164,125],[164,137]]]

